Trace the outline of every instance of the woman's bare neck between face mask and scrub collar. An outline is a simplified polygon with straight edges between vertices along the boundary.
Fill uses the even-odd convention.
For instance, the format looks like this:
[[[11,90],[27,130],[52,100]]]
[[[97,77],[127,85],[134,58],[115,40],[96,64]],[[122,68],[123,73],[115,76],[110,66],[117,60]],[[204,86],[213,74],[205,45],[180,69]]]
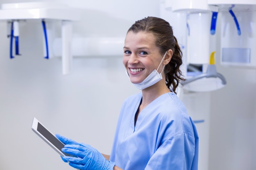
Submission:
[[[170,92],[170,90],[165,84],[165,78],[163,78],[162,80],[158,81],[156,84],[142,90],[141,107],[142,108],[146,107],[153,100],[155,100],[162,94],[168,93],[168,92]]]

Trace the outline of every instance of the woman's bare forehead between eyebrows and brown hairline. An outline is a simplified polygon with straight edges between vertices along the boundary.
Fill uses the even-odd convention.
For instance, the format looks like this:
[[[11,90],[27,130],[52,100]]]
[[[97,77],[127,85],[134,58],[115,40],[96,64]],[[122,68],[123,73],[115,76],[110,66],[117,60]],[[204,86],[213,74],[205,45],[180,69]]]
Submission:
[[[148,47],[156,47],[156,38],[153,33],[148,32],[138,32],[134,33],[133,31],[129,31],[125,37],[124,45],[126,47],[133,46],[148,46]]]

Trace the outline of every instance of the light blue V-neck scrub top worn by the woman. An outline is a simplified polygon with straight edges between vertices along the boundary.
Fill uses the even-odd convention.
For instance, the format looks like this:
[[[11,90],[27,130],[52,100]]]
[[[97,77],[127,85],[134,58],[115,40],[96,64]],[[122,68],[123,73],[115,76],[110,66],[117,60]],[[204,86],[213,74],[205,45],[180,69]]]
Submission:
[[[197,170],[198,135],[184,104],[174,92],[153,100],[134,116],[142,93],[122,106],[110,161],[125,170]]]

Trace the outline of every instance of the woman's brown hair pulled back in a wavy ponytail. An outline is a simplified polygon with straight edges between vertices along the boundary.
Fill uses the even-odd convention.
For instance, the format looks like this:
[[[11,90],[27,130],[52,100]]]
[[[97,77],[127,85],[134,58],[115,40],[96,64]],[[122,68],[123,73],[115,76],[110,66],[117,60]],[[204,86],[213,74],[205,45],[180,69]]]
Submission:
[[[179,81],[184,81],[180,71],[182,64],[182,52],[177,39],[173,36],[172,26],[169,22],[162,18],[147,17],[136,21],[127,31],[138,33],[140,31],[153,33],[156,37],[156,46],[160,48],[160,53],[164,55],[166,51],[172,49],[172,59],[165,65],[164,74],[166,85],[168,88],[172,87],[173,92],[179,85]]]

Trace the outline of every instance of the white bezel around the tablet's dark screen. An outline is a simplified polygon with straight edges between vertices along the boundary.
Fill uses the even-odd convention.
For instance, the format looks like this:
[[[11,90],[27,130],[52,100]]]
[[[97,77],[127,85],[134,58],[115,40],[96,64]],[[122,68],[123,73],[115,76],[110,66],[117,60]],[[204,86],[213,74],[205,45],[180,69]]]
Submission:
[[[33,119],[33,122],[32,122],[32,126],[31,126],[31,129],[41,138],[44,140],[44,142],[46,142],[49,146],[52,147],[52,149],[54,149],[56,152],[58,152],[60,154],[60,156],[66,156],[64,155],[56,146],[54,146],[46,137],[44,137],[39,131],[37,131],[37,125],[38,123],[40,123],[35,117]],[[40,123],[46,130],[48,130],[42,123]],[[49,130],[48,130],[49,131]],[[52,132],[49,131],[51,134]],[[52,134],[53,135],[53,134]],[[55,135],[53,135],[55,137]],[[58,139],[56,137],[56,139]],[[59,140],[59,139],[58,139]],[[60,141],[60,140],[59,140]],[[60,141],[61,142],[61,141]],[[62,142],[61,142],[62,143]],[[62,143],[63,144],[63,143]],[[63,144],[65,145],[65,144]]]

